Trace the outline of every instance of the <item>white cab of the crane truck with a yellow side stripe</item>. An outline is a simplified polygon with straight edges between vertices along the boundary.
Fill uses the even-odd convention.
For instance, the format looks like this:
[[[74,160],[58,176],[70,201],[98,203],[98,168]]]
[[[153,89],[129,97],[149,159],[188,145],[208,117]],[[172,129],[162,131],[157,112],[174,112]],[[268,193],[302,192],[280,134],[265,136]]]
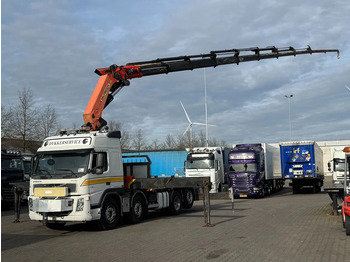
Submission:
[[[53,221],[100,219],[106,189],[118,191],[124,186],[119,138],[120,132],[115,131],[45,139],[34,158],[29,217]],[[57,216],[47,216],[49,213]]]

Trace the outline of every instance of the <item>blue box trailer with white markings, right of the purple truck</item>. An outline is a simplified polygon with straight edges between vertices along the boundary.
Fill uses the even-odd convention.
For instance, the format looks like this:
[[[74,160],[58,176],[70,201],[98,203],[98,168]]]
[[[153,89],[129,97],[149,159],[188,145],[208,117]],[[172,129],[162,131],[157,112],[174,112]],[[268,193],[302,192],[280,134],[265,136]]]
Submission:
[[[280,143],[282,175],[291,179],[293,193],[311,188],[319,192],[323,185],[323,152],[315,141]]]

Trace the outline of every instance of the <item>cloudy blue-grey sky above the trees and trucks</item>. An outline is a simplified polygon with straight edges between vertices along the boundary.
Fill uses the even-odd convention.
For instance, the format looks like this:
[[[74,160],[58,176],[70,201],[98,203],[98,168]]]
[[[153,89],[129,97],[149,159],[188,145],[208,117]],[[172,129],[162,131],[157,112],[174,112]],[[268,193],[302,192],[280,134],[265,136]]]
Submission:
[[[232,143],[350,139],[350,2],[335,0],[1,3],[1,103],[30,88],[61,126],[83,124],[96,68],[244,47],[339,49],[205,70],[209,136]],[[149,140],[205,122],[204,70],[131,80],[103,117]],[[201,127],[194,126],[198,132]]]

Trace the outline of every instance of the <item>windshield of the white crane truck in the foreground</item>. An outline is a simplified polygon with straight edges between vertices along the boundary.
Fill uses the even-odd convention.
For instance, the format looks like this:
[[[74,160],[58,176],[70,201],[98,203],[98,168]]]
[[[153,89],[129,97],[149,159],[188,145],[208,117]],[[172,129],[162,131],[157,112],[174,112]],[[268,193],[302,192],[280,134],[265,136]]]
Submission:
[[[86,174],[90,151],[39,153],[34,164],[34,178],[70,178]]]

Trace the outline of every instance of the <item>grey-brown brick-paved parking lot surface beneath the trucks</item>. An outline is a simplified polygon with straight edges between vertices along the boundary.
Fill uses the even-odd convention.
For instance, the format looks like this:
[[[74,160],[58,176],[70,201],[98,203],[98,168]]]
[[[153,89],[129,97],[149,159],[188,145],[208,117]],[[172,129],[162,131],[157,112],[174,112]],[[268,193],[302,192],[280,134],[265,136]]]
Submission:
[[[333,216],[325,193],[284,189],[264,199],[211,200],[212,227],[203,203],[179,216],[150,214],[140,224],[97,231],[82,224],[51,230],[1,214],[2,261],[350,261],[350,236]]]

